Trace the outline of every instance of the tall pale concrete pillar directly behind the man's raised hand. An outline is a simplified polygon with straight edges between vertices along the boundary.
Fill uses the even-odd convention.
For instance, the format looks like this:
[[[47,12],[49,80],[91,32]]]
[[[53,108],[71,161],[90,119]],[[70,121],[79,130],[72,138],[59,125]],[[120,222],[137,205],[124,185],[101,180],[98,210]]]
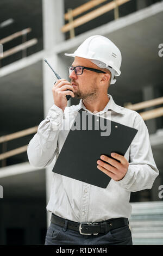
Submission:
[[[60,31],[62,25],[64,25],[64,0],[42,0],[42,14],[43,14],[43,47],[45,51],[45,58],[53,69],[61,76],[64,77],[64,70],[66,70],[66,64],[62,57],[58,54],[52,53],[52,49],[59,42],[64,41],[64,34]],[[52,87],[57,80],[53,71],[43,61],[43,108],[44,116],[46,117],[49,108],[54,104]],[[66,78],[65,78],[66,79]],[[52,181],[52,168],[51,163],[46,168],[46,199],[47,203],[51,192]],[[51,214],[47,212],[47,227],[49,226]]]

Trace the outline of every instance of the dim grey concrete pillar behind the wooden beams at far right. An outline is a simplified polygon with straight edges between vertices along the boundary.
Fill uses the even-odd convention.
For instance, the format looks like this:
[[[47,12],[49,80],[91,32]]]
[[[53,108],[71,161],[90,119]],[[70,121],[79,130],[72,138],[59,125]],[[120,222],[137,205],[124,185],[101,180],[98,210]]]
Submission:
[[[143,101],[146,100],[152,100],[154,99],[154,88],[152,85],[143,87]],[[145,111],[151,110],[154,107],[146,108]],[[147,127],[148,127],[148,132],[149,134],[153,134],[156,132],[156,119],[149,119],[145,121]]]

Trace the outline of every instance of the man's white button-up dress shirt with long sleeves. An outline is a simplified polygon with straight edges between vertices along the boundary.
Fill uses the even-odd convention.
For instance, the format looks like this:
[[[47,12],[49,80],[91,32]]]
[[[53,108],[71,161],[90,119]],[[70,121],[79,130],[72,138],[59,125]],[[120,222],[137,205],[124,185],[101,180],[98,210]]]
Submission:
[[[104,117],[105,113],[107,118],[107,113],[108,116],[111,113],[112,121],[138,130],[124,155],[129,167],[122,180],[111,179],[106,188],[53,173],[47,211],[67,220],[99,222],[109,218],[130,218],[130,192],[152,188],[159,174],[153,159],[147,126],[142,117],[136,111],[116,105],[110,94],[108,97],[109,102],[103,111],[96,114]],[[54,157],[56,161],[68,135],[68,130],[61,127],[66,124],[68,118],[73,122],[80,108],[86,109],[82,100],[79,105],[66,107],[64,113],[56,105],[49,109],[47,117],[41,121],[37,133],[28,144],[27,154],[32,166],[44,168]]]

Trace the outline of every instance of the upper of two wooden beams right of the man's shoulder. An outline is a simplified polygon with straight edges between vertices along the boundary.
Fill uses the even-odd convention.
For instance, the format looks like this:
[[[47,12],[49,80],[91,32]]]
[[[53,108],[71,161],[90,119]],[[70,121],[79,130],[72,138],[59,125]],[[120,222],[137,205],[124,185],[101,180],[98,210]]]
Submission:
[[[163,97],[159,97],[153,100],[147,100],[147,101],[143,101],[143,102],[139,102],[136,104],[130,104],[125,106],[126,108],[132,109],[132,110],[139,110],[142,108],[147,108],[147,107],[153,107],[156,105],[160,105],[163,103]]]

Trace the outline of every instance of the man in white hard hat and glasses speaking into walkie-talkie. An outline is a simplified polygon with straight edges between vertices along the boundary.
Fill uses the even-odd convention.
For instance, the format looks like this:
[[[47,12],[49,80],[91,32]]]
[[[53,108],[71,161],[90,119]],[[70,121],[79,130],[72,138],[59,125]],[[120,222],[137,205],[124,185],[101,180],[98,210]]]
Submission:
[[[62,124],[69,118],[74,120],[81,108],[106,118],[111,113],[111,120],[138,132],[125,156],[99,156],[97,168],[111,178],[106,188],[53,173],[47,205],[52,218],[45,245],[132,245],[130,192],[151,188],[159,171],[141,116],[116,105],[107,94],[115,76],[121,74],[121,52],[108,38],[95,35],[66,55],[74,57],[69,68],[71,82],[60,79],[54,84],[54,105],[28,144],[29,162],[43,168],[55,156],[57,159],[68,134]],[[79,98],[79,105],[67,107],[66,95]]]

